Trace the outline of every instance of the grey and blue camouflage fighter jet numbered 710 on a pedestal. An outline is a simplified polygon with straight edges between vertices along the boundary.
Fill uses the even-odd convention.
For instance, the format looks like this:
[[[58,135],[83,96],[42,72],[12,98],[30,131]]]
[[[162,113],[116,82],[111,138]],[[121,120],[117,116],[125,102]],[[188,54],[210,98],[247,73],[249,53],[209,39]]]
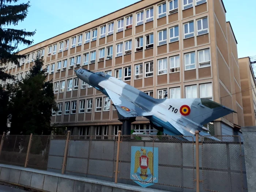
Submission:
[[[104,72],[75,70],[76,76],[108,96],[124,117],[143,116],[153,127],[172,136],[209,135],[203,125],[234,110],[209,99],[155,99]]]

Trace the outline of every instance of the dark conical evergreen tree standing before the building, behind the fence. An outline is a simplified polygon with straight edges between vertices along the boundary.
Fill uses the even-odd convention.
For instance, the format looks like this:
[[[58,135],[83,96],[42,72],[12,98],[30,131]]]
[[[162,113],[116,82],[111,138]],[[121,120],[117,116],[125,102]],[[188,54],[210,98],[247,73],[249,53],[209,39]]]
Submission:
[[[48,77],[46,69],[42,69],[44,61],[37,57],[30,67],[29,74],[15,85],[9,85],[14,95],[11,96],[11,134],[37,135],[50,134],[52,108],[57,110],[52,81],[45,82]]]

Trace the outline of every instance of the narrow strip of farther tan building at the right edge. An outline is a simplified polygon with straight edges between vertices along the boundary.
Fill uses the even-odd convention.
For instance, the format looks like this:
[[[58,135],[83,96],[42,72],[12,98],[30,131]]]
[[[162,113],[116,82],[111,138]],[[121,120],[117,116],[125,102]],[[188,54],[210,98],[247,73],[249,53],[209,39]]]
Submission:
[[[242,102],[244,109],[244,125],[256,125],[256,81],[249,57],[239,60]]]

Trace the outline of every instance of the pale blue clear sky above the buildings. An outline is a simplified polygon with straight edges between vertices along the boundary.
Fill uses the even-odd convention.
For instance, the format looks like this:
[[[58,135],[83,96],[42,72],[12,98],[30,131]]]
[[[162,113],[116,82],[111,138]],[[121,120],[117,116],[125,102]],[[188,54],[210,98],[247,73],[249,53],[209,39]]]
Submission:
[[[36,30],[34,44],[74,29],[139,0],[30,0],[27,18],[15,29]],[[19,3],[27,2],[20,0]],[[238,57],[256,56],[256,1],[223,0],[238,42]],[[97,9],[95,9],[97,6]],[[19,50],[26,48],[20,45]]]

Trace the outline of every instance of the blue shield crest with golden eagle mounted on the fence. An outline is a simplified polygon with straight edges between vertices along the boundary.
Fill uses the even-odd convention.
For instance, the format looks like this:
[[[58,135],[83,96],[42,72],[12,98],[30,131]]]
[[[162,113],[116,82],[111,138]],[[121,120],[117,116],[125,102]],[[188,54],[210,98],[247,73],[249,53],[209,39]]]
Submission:
[[[158,182],[158,147],[132,146],[130,176],[141,187]]]

